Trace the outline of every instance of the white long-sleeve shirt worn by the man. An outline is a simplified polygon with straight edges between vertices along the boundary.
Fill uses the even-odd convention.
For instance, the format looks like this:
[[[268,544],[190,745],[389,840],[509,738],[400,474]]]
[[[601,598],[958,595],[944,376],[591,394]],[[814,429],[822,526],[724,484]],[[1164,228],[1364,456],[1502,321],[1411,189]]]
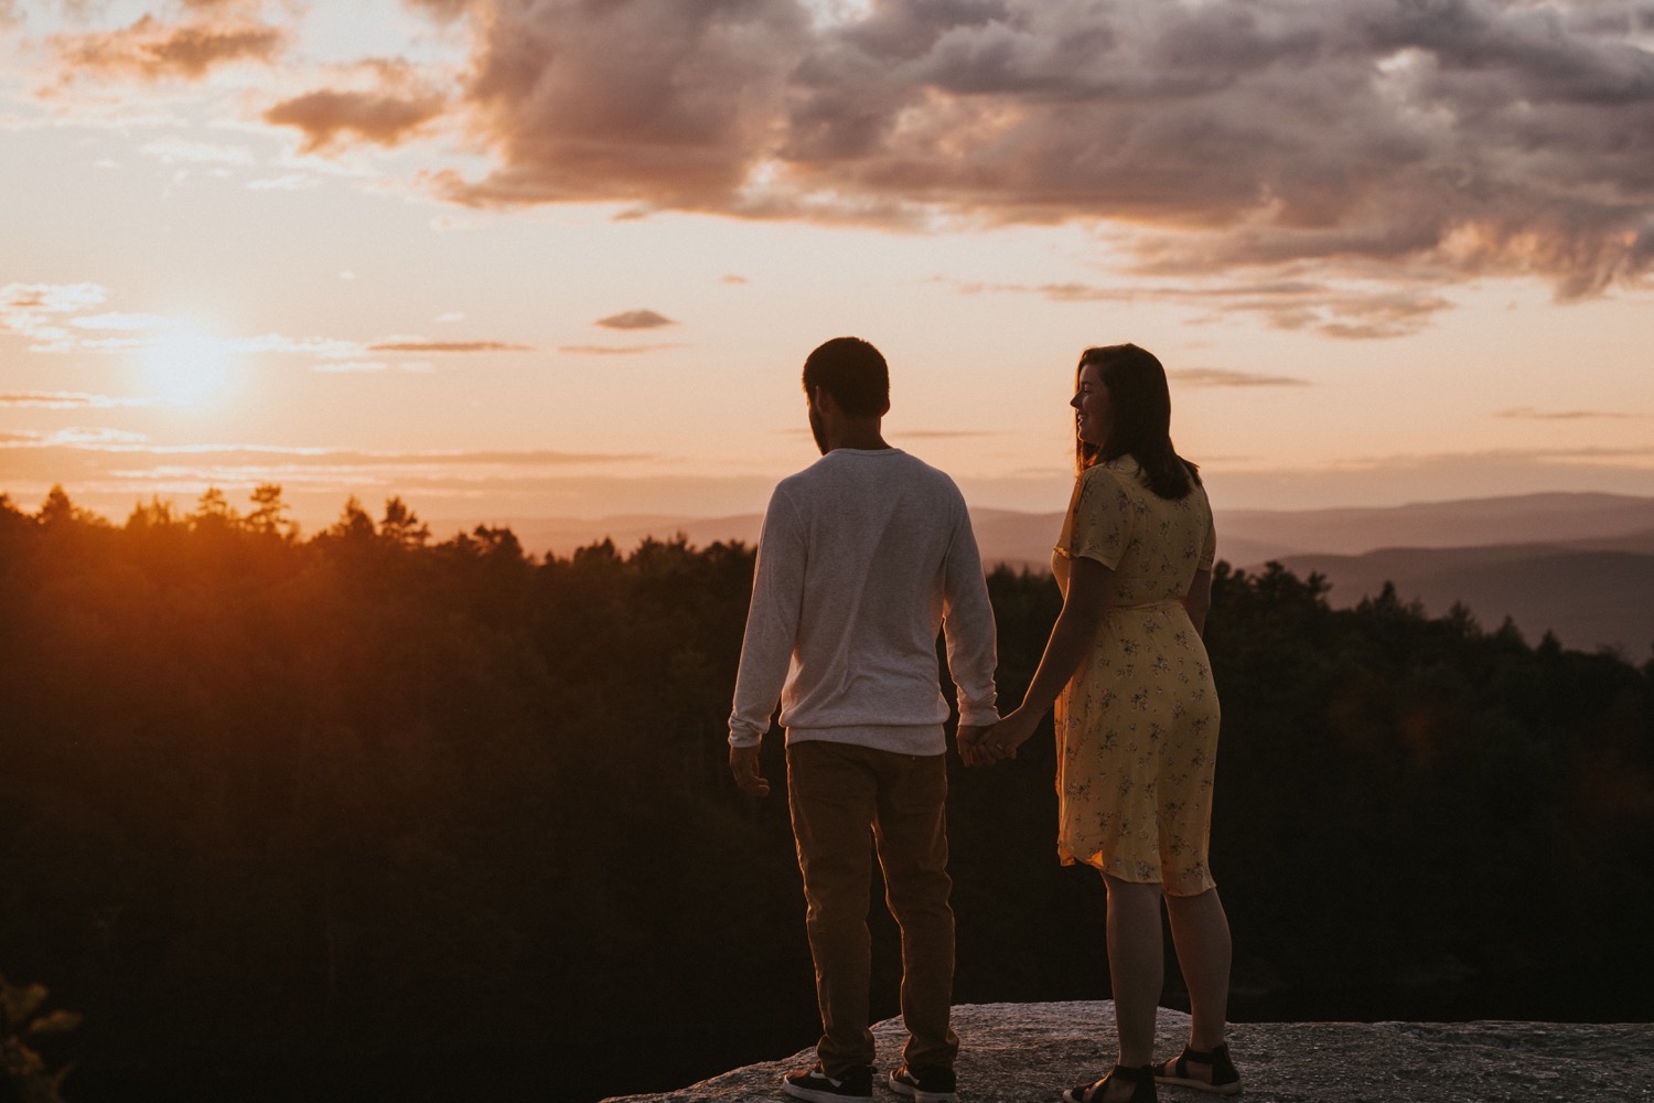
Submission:
[[[829,451],[769,499],[729,742],[756,746],[779,696],[787,742],[941,754],[938,628],[961,723],[994,723],[994,614],[959,488],[900,448]]]

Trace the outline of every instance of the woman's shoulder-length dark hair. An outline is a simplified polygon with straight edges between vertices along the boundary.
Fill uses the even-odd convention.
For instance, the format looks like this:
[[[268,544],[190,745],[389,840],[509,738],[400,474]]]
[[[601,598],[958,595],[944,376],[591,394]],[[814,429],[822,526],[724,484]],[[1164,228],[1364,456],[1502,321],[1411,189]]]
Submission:
[[[1108,387],[1111,423],[1108,438],[1088,445],[1073,438],[1073,465],[1083,471],[1093,463],[1131,456],[1143,468],[1143,483],[1159,498],[1186,498],[1199,485],[1199,468],[1171,446],[1171,389],[1166,369],[1148,349],[1110,344],[1087,349],[1073,369],[1075,390],[1087,364],[1097,367]]]

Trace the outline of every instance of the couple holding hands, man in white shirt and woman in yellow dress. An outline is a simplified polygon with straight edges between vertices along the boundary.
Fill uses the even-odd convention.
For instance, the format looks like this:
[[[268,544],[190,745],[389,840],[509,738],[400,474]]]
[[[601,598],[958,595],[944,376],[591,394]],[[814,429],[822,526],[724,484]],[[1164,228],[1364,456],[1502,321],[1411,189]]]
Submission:
[[[969,514],[951,478],[885,443],[883,356],[857,337],[829,341],[804,364],[804,392],[822,458],[782,480],[764,514],[729,718],[729,767],[754,795],[769,792],[758,747],[777,700],[786,729],[822,1035],[815,1065],[787,1073],[782,1090],[872,1100],[877,852],[901,929],[908,1030],[887,1083],[916,1103],[958,1100],[941,628],[964,764],[1014,759],[1055,708],[1057,853],[1095,867],[1108,890],[1118,1063],[1062,1098],[1153,1103],[1156,1083],[1234,1095],[1229,921],[1207,870],[1219,709],[1201,633],[1216,531],[1196,466],[1171,446],[1159,361],[1131,344],[1080,357],[1078,478],[1052,556],[1062,612],[1004,718]],[[1183,1053],[1154,1063],[1163,901],[1193,1017]],[[1022,1098],[1037,1095],[1030,1085]]]

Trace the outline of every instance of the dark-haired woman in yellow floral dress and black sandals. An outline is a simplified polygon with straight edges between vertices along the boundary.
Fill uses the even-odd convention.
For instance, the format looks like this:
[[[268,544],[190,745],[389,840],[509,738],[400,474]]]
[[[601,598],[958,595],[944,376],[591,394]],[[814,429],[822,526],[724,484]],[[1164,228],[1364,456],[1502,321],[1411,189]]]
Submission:
[[[1055,704],[1057,853],[1108,888],[1108,972],[1120,1057],[1070,1103],[1146,1103],[1154,1083],[1240,1090],[1224,1045],[1229,919],[1206,865],[1217,691],[1201,632],[1216,529],[1196,466],[1171,446],[1159,361],[1087,349],[1075,395],[1075,481],[1052,571],[1062,614],[1022,706],[968,762],[1014,757]],[[1159,906],[1189,987],[1181,1057],[1151,1065],[1164,971]]]

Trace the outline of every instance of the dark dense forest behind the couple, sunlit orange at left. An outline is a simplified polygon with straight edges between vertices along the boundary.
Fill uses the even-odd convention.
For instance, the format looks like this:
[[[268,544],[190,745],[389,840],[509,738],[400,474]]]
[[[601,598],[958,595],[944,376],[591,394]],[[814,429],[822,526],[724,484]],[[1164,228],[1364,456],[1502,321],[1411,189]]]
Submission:
[[[726,766],[753,559],[0,496],[0,974],[60,1027],[5,1012],[0,1098],[597,1100],[810,1045],[786,790]],[[989,590],[1014,703],[1059,595]],[[1219,564],[1207,643],[1234,1019],[1654,1019],[1654,661],[1277,566]],[[949,771],[956,1002],[1105,997],[1050,741]]]

